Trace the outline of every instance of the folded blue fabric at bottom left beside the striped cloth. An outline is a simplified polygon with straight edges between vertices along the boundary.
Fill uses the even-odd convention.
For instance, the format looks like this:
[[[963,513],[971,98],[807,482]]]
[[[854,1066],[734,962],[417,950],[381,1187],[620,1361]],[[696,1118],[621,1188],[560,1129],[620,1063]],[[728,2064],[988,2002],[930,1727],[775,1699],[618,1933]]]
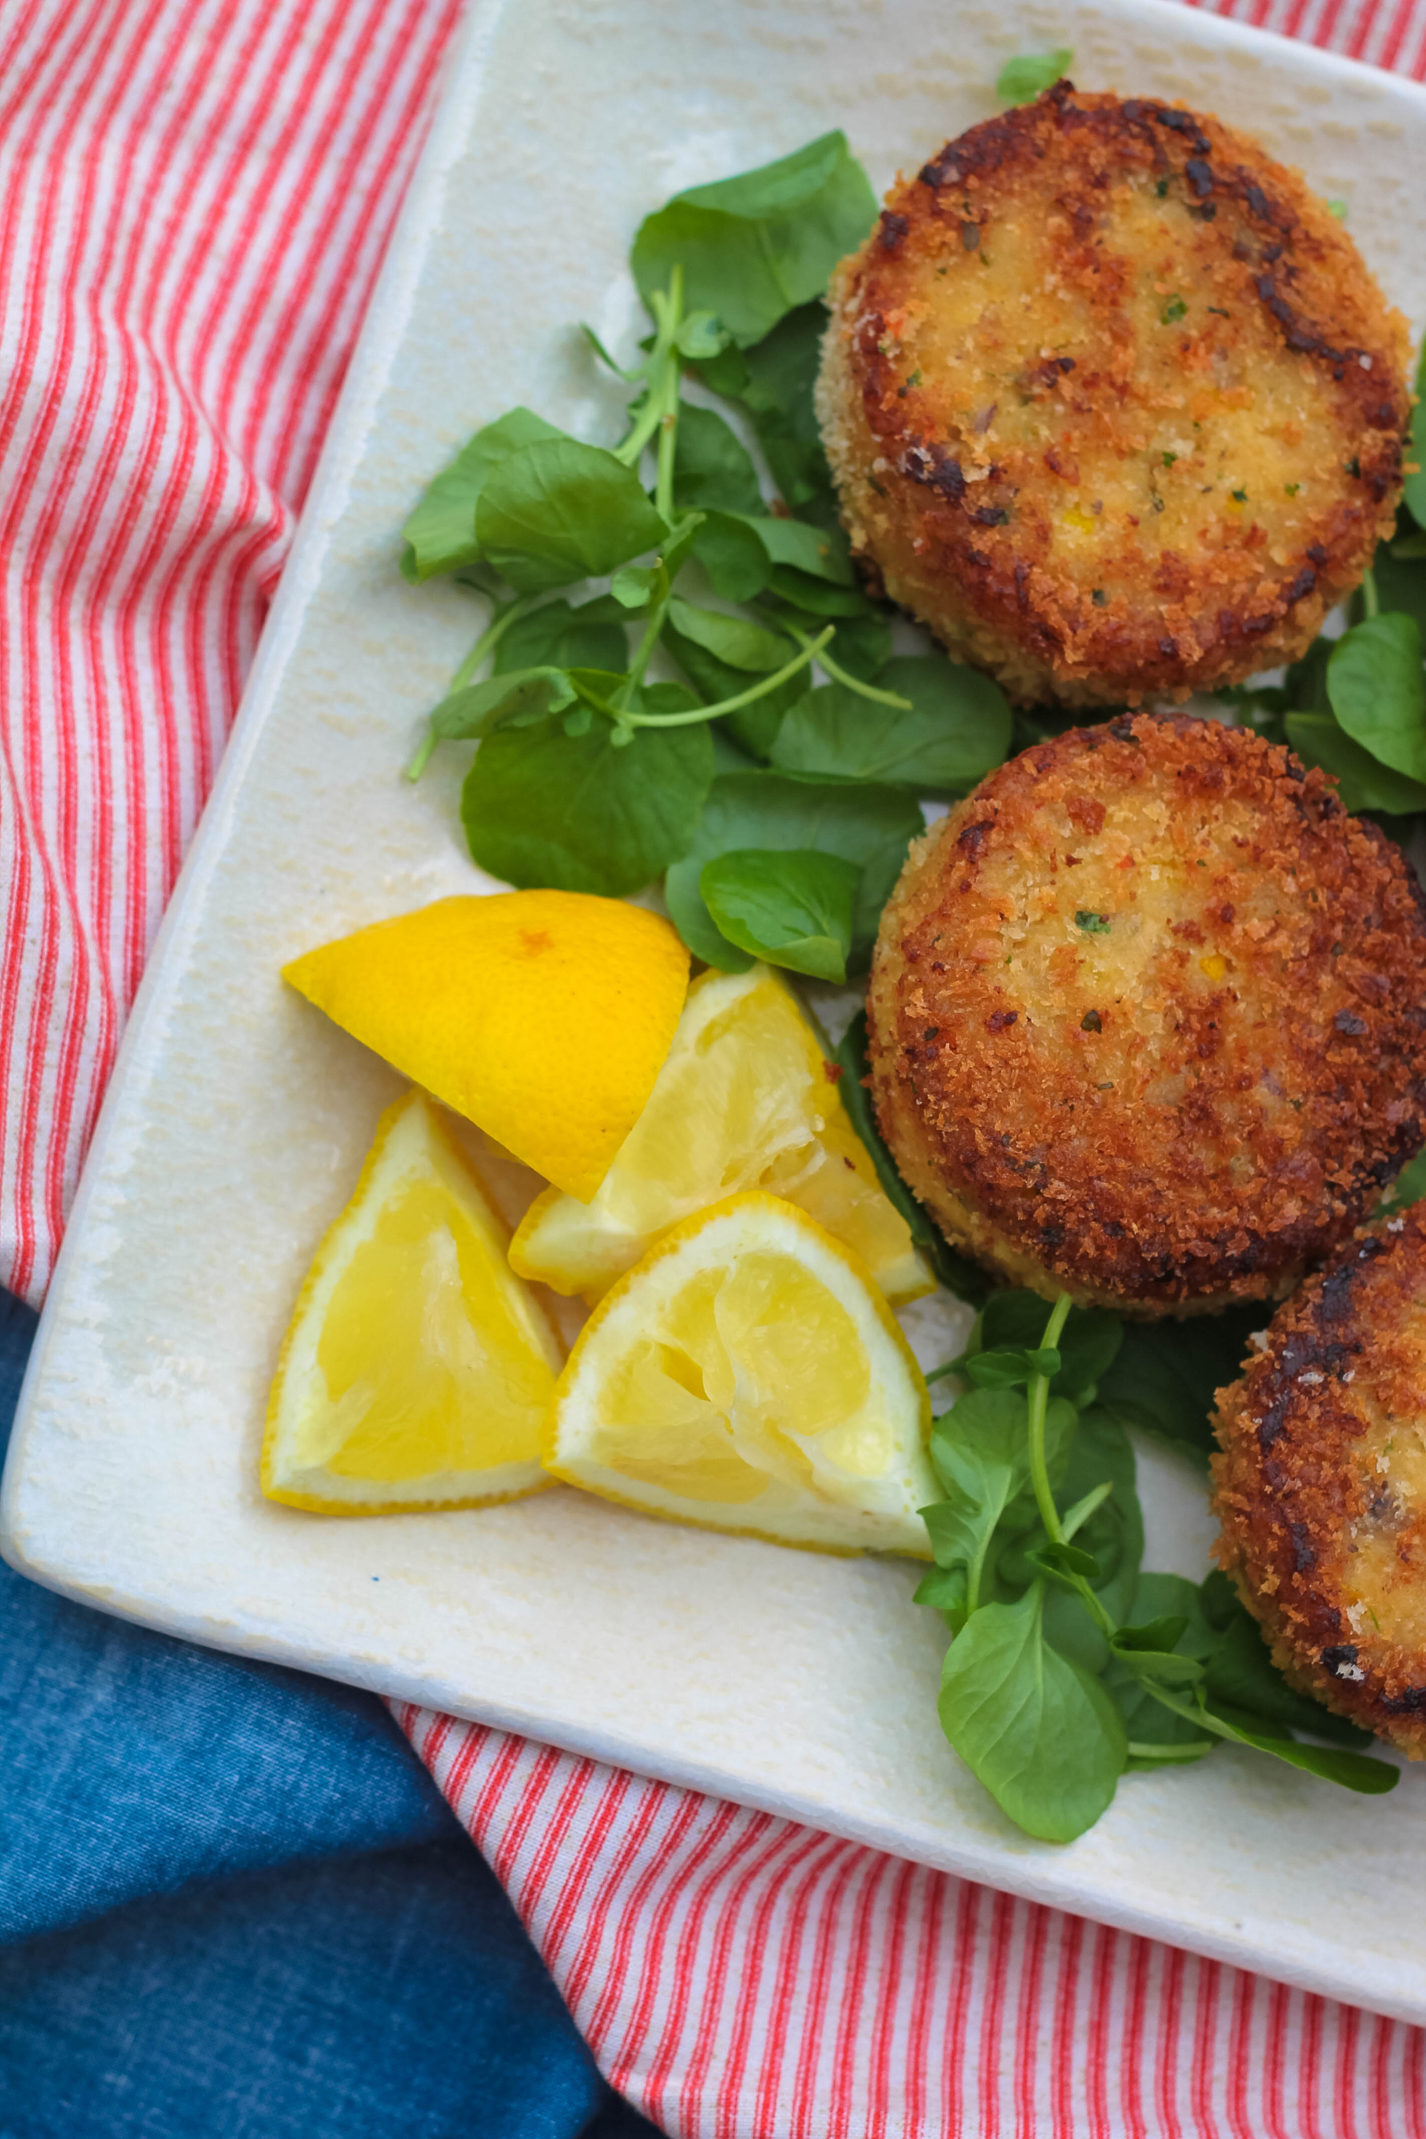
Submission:
[[[0,1566],[0,2139],[652,2133],[374,1696]]]

